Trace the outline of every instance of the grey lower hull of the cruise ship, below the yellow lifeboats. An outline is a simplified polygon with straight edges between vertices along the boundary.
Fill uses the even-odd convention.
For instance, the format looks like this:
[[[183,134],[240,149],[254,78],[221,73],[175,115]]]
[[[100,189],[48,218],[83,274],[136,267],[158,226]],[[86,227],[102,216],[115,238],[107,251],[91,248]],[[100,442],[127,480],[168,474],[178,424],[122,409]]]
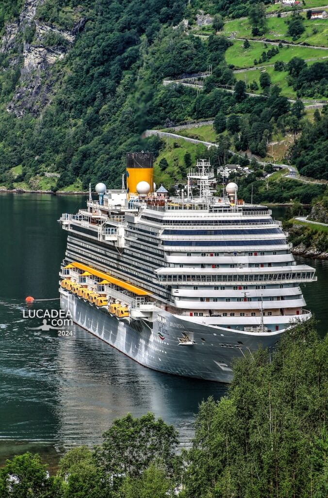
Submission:
[[[60,289],[61,307],[69,310],[75,323],[136,362],[153,370],[174,375],[231,382],[232,361],[256,351],[261,345],[273,348],[278,334],[246,334],[227,331],[161,311],[161,320],[118,321],[107,310]],[[163,317],[165,323],[163,323]],[[179,345],[183,332],[195,341]]]

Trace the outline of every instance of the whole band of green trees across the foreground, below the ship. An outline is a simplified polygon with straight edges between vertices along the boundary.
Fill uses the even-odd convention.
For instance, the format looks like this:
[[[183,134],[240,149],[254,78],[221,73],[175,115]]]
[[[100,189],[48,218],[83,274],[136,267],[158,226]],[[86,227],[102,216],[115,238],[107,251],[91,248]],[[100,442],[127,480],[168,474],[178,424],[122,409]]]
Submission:
[[[220,400],[200,406],[190,449],[148,413],[113,422],[94,448],[74,448],[48,473],[37,454],[7,460],[1,498],[325,498],[328,336],[314,320],[275,351],[244,354]]]

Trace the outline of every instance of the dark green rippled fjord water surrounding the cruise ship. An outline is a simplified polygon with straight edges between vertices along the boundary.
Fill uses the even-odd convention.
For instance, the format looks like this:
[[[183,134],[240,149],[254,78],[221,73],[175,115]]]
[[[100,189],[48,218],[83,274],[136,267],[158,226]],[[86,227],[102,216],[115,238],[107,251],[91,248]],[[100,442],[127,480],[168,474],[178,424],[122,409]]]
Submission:
[[[58,271],[66,248],[61,213],[75,213],[83,196],[0,194],[0,463],[15,453],[38,451],[56,462],[66,448],[95,444],[111,421],[130,412],[155,412],[192,437],[202,399],[220,398],[226,386],[146,369],[78,326],[73,336],[29,330],[41,320],[33,309],[58,309]],[[328,261],[300,259],[317,268],[318,282],[304,287],[308,307],[327,331]]]

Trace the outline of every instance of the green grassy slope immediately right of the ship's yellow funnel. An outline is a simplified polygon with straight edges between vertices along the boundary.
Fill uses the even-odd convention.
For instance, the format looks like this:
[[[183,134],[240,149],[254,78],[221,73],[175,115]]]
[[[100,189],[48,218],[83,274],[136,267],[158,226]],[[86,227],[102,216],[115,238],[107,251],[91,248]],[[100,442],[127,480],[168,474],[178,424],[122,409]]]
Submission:
[[[154,164],[154,179],[158,186],[163,183],[164,187],[167,188],[175,183],[180,183],[182,178],[185,179],[185,174],[182,175],[180,171],[181,167],[184,168],[185,153],[190,153],[191,163],[195,164],[197,154],[205,152],[206,147],[202,144],[196,145],[187,142],[186,140],[183,140],[183,138],[170,138],[168,142],[166,141],[165,143],[165,147],[162,149]],[[174,144],[178,145],[178,147],[174,146]],[[168,162],[168,167],[164,171],[161,171],[159,163],[163,158]]]

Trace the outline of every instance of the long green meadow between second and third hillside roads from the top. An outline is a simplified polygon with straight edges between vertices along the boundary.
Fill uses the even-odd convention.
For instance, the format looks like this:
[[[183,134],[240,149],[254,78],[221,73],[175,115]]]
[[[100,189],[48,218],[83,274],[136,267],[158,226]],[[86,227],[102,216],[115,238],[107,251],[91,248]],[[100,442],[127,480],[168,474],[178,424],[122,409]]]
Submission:
[[[258,60],[263,51],[268,51],[270,44],[251,42],[249,48],[244,48],[244,42],[234,40],[231,47],[226,51],[226,60],[228,64],[234,65],[236,69],[243,69],[254,66],[254,59]],[[319,60],[328,57],[328,50],[316,49],[304,46],[284,46],[279,49],[279,53],[274,55],[269,61],[261,63],[261,66],[274,64],[276,61],[289,62],[293,57],[302,59]]]

